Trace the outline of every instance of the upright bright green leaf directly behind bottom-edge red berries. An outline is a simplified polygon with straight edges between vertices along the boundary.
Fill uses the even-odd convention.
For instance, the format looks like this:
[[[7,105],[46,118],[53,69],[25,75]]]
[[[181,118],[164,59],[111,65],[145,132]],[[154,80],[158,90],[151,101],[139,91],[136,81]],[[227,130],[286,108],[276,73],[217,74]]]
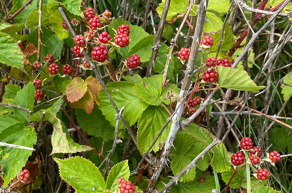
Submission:
[[[130,177],[128,160],[120,162],[112,167],[112,170],[109,172],[109,175],[107,177],[105,189],[110,189],[111,191],[114,191],[116,189],[118,178],[122,176],[125,178],[125,180],[128,180]]]

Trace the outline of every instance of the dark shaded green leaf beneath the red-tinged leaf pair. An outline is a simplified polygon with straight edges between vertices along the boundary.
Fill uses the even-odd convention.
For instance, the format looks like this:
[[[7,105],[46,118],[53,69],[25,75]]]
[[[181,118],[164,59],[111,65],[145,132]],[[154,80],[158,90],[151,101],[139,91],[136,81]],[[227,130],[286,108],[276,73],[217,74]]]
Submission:
[[[97,107],[93,108],[91,114],[86,114],[81,109],[75,109],[75,114],[82,130],[88,135],[100,136],[106,141],[114,138],[114,127]]]

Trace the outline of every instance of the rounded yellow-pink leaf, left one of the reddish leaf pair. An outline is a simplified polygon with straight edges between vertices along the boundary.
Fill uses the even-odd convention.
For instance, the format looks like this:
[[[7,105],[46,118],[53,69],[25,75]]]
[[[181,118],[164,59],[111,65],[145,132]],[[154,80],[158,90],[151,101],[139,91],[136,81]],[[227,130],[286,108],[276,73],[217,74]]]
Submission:
[[[65,94],[69,102],[76,102],[83,97],[87,91],[87,84],[83,79],[77,77],[72,80],[66,87]]]

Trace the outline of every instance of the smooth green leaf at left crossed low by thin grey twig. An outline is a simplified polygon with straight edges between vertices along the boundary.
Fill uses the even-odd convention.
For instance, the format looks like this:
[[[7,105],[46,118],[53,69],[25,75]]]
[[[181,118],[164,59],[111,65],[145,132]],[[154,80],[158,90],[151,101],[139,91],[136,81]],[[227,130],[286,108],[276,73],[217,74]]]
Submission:
[[[19,105],[20,107],[25,107],[29,110],[34,108],[34,86],[32,82],[29,82],[25,87],[17,92],[15,99],[13,101],[14,105]],[[14,113],[17,117],[22,117],[29,121],[29,112],[14,108]]]

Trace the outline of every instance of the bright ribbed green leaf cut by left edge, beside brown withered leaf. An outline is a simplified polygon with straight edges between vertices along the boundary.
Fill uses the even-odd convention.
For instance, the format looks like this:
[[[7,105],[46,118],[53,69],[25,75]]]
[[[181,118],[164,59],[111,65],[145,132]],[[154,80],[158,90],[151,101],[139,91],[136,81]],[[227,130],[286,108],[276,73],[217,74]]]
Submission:
[[[8,34],[0,33],[0,62],[7,66],[23,69],[23,53],[16,40]]]

